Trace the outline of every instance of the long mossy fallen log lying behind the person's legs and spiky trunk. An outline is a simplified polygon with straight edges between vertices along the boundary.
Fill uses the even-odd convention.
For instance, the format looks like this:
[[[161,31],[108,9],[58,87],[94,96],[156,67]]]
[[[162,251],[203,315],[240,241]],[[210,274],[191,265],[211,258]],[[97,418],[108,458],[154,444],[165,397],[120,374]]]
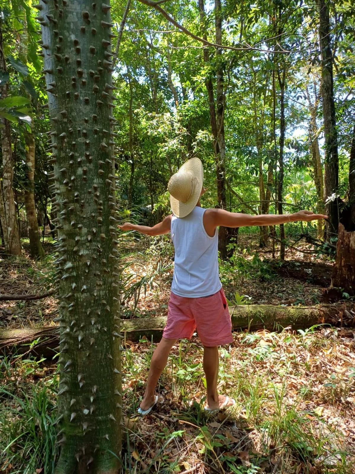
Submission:
[[[281,331],[283,328],[310,328],[316,324],[355,325],[355,304],[319,304],[315,306],[272,306],[240,305],[229,308],[233,330],[268,329]],[[153,341],[160,339],[166,317],[128,319],[122,323],[126,339],[138,341],[142,337]],[[36,343],[33,343],[37,341]],[[31,352],[36,356],[52,357],[58,350],[59,326],[45,328],[0,328],[0,353],[16,351],[18,354]]]

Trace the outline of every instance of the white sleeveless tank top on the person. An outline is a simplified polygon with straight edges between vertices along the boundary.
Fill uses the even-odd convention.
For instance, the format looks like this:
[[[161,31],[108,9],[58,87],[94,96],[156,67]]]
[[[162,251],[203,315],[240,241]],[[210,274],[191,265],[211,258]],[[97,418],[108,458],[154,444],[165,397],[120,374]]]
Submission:
[[[218,269],[218,229],[210,237],[204,229],[204,211],[195,209],[186,217],[171,219],[175,268],[171,291],[186,298],[201,298],[222,288]]]

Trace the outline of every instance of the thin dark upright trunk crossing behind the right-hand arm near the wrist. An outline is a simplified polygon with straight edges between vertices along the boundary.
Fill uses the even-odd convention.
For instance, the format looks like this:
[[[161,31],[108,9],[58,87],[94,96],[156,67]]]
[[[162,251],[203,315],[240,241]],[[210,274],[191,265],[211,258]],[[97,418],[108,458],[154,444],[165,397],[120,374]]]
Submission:
[[[282,74],[277,70],[278,81],[280,85],[280,140],[279,140],[279,173],[277,179],[277,210],[279,214],[283,214],[282,209],[282,191],[284,186],[284,141],[285,141],[285,75],[286,66],[283,64]],[[285,259],[285,230],[284,224],[280,224],[280,258]]]

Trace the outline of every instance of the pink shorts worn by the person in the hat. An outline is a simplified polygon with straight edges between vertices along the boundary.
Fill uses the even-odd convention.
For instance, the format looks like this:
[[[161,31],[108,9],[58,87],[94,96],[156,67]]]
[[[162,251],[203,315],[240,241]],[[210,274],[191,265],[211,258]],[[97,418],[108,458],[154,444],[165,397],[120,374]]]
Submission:
[[[231,316],[222,288],[203,298],[185,298],[171,292],[163,337],[190,339],[196,328],[204,346],[233,342]]]

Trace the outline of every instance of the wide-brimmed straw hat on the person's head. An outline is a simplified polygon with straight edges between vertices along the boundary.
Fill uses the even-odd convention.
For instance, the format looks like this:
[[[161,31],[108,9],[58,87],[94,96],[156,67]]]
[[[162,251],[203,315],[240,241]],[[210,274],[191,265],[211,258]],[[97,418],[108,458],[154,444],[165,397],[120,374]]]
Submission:
[[[176,217],[186,217],[195,208],[204,183],[204,168],[199,158],[186,161],[169,179],[170,205]]]

